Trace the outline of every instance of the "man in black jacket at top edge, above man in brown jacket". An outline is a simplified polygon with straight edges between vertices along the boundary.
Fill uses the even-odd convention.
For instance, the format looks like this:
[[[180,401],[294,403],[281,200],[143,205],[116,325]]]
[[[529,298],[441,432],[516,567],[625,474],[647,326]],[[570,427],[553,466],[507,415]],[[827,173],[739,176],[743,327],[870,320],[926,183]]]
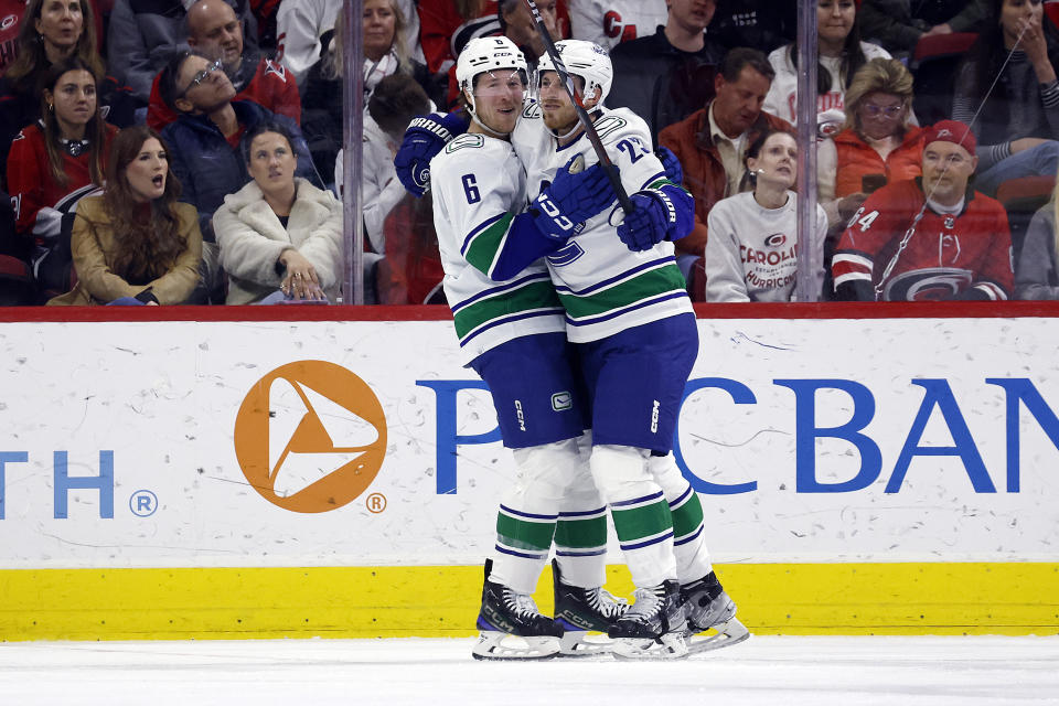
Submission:
[[[651,138],[683,120],[713,97],[716,67],[725,55],[706,25],[714,0],[671,0],[665,25],[654,34],[622,42],[610,52],[614,82],[610,108],[630,108],[648,121]]]

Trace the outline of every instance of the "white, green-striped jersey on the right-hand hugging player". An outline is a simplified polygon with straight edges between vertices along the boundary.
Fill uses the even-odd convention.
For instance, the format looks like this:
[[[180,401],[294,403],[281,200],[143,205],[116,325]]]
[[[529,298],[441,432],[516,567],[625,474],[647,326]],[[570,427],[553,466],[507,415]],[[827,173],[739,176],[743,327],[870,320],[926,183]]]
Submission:
[[[631,110],[603,109],[596,130],[629,194],[665,179],[662,162],[651,151],[648,124]],[[555,172],[575,154],[584,154],[586,167],[599,161],[585,135],[558,148],[537,106],[526,111],[512,141],[526,167],[530,194],[550,184]],[[597,341],[692,311],[673,244],[663,242],[633,253],[618,237],[609,217],[610,212],[605,211],[589,218],[580,235],[546,258],[566,310],[566,335],[574,343]]]

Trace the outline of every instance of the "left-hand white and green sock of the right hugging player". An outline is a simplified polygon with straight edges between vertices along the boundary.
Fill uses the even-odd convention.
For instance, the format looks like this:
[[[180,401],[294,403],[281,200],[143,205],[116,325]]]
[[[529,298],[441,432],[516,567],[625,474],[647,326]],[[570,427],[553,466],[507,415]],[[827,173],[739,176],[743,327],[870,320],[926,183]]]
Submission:
[[[591,468],[596,486],[610,506],[632,582],[653,588],[676,578],[673,520],[662,489],[648,472],[648,451],[596,446]]]

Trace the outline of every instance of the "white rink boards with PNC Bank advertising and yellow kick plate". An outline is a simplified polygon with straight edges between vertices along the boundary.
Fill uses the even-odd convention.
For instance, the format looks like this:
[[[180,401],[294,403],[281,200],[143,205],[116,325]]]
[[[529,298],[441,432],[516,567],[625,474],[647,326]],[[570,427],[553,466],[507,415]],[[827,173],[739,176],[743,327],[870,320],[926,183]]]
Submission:
[[[698,310],[676,449],[748,625],[1059,632],[1059,309],[990,311]],[[491,400],[443,312],[2,312],[0,638],[468,634]]]

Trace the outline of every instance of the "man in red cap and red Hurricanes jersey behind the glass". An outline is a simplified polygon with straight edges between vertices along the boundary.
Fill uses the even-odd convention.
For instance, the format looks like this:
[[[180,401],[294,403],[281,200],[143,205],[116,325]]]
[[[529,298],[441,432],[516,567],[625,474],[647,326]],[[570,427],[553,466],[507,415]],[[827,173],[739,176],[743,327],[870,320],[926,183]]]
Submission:
[[[975,138],[942,120],[923,138],[922,180],[895,182],[864,202],[832,263],[838,299],[919,301],[1007,299],[1012,238],[1007,214],[969,185]]]

